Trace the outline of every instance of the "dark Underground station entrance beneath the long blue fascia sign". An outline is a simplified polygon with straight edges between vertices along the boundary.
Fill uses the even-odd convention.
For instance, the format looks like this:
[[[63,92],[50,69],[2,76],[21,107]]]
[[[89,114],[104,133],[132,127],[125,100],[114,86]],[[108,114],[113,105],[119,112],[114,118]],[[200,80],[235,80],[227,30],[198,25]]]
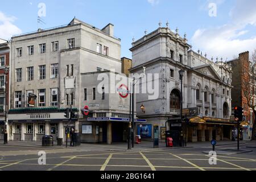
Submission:
[[[135,123],[146,119],[135,119]],[[81,142],[108,143],[127,142],[130,118],[99,117],[80,119]],[[136,125],[135,125],[136,126]]]

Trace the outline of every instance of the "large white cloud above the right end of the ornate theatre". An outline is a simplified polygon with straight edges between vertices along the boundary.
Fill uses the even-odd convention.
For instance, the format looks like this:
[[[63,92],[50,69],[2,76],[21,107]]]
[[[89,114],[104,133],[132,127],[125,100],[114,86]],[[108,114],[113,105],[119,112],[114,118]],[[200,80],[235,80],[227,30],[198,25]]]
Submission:
[[[192,46],[211,56],[228,57],[256,48],[256,34],[242,39],[241,36],[249,32],[246,26],[256,26],[256,1],[237,0],[236,6],[230,11],[231,21],[218,27],[201,28],[192,37]],[[209,58],[209,57],[208,57]]]

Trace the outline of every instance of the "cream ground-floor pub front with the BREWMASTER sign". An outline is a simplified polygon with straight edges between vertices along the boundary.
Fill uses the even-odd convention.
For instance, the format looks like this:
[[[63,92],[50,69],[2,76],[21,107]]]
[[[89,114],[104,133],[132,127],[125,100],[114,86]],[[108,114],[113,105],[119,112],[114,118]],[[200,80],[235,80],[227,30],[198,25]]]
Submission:
[[[75,109],[77,111],[77,109]],[[65,109],[25,108],[9,111],[9,140],[41,141],[44,135],[52,135],[53,140],[65,140],[65,127],[75,128],[77,119],[69,121],[64,117]]]

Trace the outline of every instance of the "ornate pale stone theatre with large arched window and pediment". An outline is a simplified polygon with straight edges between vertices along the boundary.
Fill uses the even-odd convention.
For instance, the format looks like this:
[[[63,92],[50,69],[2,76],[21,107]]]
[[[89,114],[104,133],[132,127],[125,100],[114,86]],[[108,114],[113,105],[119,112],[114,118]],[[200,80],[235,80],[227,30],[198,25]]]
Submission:
[[[166,130],[171,130],[177,142],[185,133],[192,142],[231,138],[232,69],[229,65],[222,59],[214,63],[200,51],[192,51],[186,35],[182,38],[177,29],[172,32],[168,24],[150,34],[145,32],[132,43],[130,51],[132,73],[141,73],[143,66],[147,74],[159,74],[159,78],[154,77],[154,82],[159,83],[158,98],[149,100],[150,94],[137,94],[137,116],[147,119],[149,125],[158,125],[162,133],[159,138],[165,139]],[[197,118],[190,118],[187,131],[180,122],[181,69],[184,70],[183,108],[198,107],[199,110]],[[141,105],[145,106],[145,113],[140,111]]]

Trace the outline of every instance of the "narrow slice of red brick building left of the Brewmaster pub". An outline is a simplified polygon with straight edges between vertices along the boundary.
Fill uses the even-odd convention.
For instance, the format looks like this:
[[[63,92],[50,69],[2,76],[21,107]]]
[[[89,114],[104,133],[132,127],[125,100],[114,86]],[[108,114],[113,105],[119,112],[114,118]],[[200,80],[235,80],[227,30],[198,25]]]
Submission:
[[[6,68],[9,68],[9,60],[10,44],[0,39],[0,140],[3,140],[5,133],[5,109],[9,110],[9,72],[6,71]]]

